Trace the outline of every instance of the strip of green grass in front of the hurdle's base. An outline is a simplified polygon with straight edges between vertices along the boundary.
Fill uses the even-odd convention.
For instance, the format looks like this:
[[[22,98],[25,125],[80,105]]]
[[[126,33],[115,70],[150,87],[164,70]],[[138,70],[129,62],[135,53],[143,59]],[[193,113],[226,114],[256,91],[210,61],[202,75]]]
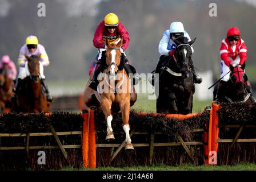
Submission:
[[[74,171],[74,170],[93,170],[93,171],[255,171],[256,164],[245,163],[235,164],[233,166],[208,166],[206,164],[202,166],[194,166],[193,164],[182,164],[178,166],[167,166],[165,164],[157,164],[152,166],[138,166],[138,167],[99,167],[96,169],[74,169],[72,167],[66,167],[62,170]]]

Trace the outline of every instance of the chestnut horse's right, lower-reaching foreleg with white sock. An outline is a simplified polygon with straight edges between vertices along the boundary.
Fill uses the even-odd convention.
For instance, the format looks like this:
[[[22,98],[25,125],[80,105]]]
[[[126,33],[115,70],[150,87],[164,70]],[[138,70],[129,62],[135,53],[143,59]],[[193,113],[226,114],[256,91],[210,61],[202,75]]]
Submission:
[[[126,146],[125,149],[134,149],[133,144],[131,144],[130,138],[130,125],[129,125],[129,115],[130,115],[130,102],[127,101],[125,104],[121,105],[122,119],[123,119],[123,130],[126,136]]]

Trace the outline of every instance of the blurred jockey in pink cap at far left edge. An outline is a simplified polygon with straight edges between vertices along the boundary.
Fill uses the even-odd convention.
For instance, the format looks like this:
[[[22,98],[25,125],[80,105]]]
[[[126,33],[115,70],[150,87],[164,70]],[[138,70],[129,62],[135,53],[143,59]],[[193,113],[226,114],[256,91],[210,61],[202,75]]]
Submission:
[[[3,69],[4,65],[7,65],[7,75],[8,77],[15,81],[17,77],[17,69],[15,67],[15,64],[13,61],[10,59],[10,56],[4,55],[0,61],[0,69]]]

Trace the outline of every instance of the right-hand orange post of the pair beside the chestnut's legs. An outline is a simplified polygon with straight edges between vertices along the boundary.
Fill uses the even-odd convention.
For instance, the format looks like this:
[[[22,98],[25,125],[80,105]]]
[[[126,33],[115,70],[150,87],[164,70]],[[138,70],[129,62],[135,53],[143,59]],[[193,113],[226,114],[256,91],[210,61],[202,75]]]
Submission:
[[[94,110],[90,109],[89,112],[89,168],[96,168],[96,138],[94,126]]]

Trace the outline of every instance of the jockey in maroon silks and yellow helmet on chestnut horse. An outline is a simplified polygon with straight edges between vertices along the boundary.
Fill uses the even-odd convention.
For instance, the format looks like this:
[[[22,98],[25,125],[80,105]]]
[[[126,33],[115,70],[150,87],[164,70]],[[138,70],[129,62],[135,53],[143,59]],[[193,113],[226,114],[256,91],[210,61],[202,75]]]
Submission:
[[[115,15],[114,13],[109,13],[105,16],[105,19],[103,19],[99,24],[98,27],[96,28],[94,38],[93,38],[93,45],[94,47],[98,48],[98,56],[96,57],[96,63],[93,63],[91,65],[89,75],[91,73],[91,69],[95,68],[94,74],[93,74],[93,79],[90,82],[90,88],[97,90],[97,85],[98,85],[98,75],[101,71],[103,71],[103,67],[101,66],[101,59],[105,59],[105,55],[102,55],[103,51],[106,51],[107,46],[106,46],[106,38],[110,41],[110,43],[115,43],[119,38],[123,39],[123,44],[120,48],[120,51],[122,53],[121,59],[125,61],[125,68],[126,70],[130,73],[135,73],[134,71],[131,71],[129,69],[129,61],[126,59],[125,55],[125,50],[129,46],[130,38],[129,38],[129,33],[125,29],[125,26],[121,22],[119,22],[118,16]],[[105,53],[105,52],[103,52]],[[138,78],[133,77],[134,84],[137,84]]]

